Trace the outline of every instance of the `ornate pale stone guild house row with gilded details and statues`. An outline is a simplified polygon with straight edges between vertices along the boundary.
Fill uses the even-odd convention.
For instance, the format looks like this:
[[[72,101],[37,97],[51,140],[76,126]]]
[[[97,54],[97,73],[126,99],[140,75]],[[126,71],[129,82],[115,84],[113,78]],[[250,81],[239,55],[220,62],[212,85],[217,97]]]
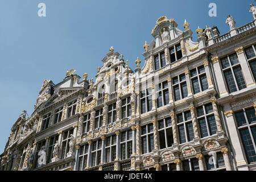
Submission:
[[[1,170],[256,170],[256,7],[220,35],[160,17],[132,70],[109,49],[96,78],[44,80],[11,128]],[[247,12],[248,13],[248,12]],[[133,63],[134,64],[134,63]]]

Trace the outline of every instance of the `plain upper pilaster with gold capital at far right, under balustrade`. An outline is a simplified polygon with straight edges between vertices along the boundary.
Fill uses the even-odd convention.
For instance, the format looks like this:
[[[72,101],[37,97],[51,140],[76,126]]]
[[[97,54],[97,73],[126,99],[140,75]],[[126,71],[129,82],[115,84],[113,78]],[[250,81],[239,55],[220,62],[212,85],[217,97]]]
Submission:
[[[242,68],[243,76],[245,77],[246,86],[247,87],[254,86],[255,82],[253,81],[253,75],[251,75],[251,71],[247,63],[245,52],[243,51],[243,47],[237,48],[235,51],[237,52],[237,56]]]

